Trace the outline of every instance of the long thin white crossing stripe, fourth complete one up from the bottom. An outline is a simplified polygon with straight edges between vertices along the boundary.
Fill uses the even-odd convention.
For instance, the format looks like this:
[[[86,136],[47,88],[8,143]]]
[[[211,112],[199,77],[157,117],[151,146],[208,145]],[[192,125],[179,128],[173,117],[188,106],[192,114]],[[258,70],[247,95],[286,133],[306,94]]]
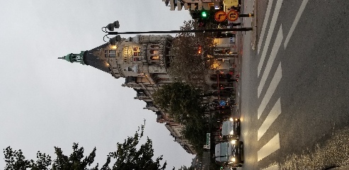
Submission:
[[[265,81],[267,80],[270,69],[273,66],[273,62],[275,60],[275,57],[278,54],[278,50],[280,48],[282,39],[283,39],[283,35],[282,35],[282,25],[281,25],[279,28],[278,35],[276,36],[273,49],[271,50],[269,60],[267,62],[267,65],[265,66],[265,71],[263,72],[261,82],[259,83],[259,86],[258,86],[258,98],[259,98],[259,96],[261,96],[263,86],[265,84]]]

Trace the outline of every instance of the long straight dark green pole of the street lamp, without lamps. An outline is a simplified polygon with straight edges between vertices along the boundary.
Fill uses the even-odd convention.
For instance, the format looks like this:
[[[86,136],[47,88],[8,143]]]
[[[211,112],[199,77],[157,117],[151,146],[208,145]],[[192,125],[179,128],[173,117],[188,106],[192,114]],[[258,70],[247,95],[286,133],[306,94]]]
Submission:
[[[227,31],[249,31],[252,28],[225,28],[225,29],[204,29],[204,30],[153,30],[153,31],[138,31],[138,32],[108,32],[108,35],[120,35],[120,34],[143,34],[143,33],[216,33]]]

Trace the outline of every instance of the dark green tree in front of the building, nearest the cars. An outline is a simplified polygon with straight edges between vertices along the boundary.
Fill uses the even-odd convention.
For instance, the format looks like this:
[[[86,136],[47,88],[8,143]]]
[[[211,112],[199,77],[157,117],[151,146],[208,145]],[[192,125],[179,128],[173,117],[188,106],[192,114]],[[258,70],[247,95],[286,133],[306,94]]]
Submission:
[[[202,90],[183,82],[166,84],[153,96],[156,106],[184,126],[182,135],[194,146],[198,155],[202,154],[206,133],[210,132],[209,120],[204,117],[203,96],[206,95]]]

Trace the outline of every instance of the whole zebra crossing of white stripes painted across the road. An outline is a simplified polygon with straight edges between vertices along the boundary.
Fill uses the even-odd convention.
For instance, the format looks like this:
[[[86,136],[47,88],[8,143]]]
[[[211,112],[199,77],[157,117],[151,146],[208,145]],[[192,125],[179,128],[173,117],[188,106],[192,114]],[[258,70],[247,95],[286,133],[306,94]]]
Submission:
[[[273,48],[271,49],[270,56],[268,57],[268,61],[265,61],[265,57],[269,50],[268,48],[270,46],[270,41],[274,33],[276,21],[278,20],[278,16],[282,6],[282,1],[283,0],[276,1],[275,8],[273,10],[273,16],[269,24],[269,30],[267,32],[267,35],[264,41],[264,34],[266,31],[266,28],[268,27],[271,7],[273,6],[273,0],[268,1],[268,7],[265,11],[265,18],[263,21],[261,35],[259,36],[259,40],[258,40],[257,54],[258,56],[261,54],[261,58],[258,63],[257,77],[260,79],[259,85],[258,85],[258,98],[261,99],[261,103],[258,106],[257,118],[258,120],[260,120],[261,115],[263,114],[266,115],[265,120],[260,120],[260,121],[263,121],[263,123],[257,130],[258,141],[261,140],[261,138],[265,135],[265,133],[268,133],[268,129],[270,128],[270,126],[273,125],[275,120],[277,120],[278,116],[282,113],[282,107],[281,107],[282,99],[280,96],[277,96],[278,94],[274,93],[276,89],[278,89],[278,84],[280,84],[280,81],[282,80],[282,63],[280,61],[275,61],[275,57],[278,55],[278,51],[280,50],[280,46],[283,41],[284,41],[284,49],[286,49],[287,44],[290,41],[290,38],[292,37],[292,33],[294,32],[294,29],[297,26],[299,18],[300,16],[302,16],[302,12],[304,11],[304,8],[308,2],[308,0],[302,1],[302,5],[299,7],[297,15],[294,18],[290,31],[289,33],[287,33],[287,36],[285,39],[283,35],[282,24],[280,25],[280,28],[278,29],[278,34],[275,38],[275,41],[273,42]],[[265,69],[262,72],[262,68],[264,64],[265,64]],[[278,65],[278,69],[276,69],[275,72],[270,72],[273,65]],[[273,77],[272,80],[270,81],[270,84],[267,84],[266,82],[268,77]],[[265,93],[262,93],[263,90],[265,89],[266,89]],[[272,97],[278,98],[278,101],[276,101],[275,103],[270,103],[270,99]],[[267,105],[273,105],[273,108],[268,113],[265,113],[265,108]],[[265,157],[268,157],[270,154],[273,154],[273,152],[277,152],[278,149],[280,149],[280,147],[281,147],[280,133],[278,132],[271,139],[268,139],[268,142],[265,145],[263,145],[261,149],[258,150],[257,152],[258,162],[263,161]],[[279,166],[278,164],[276,164],[266,169],[279,169]]]

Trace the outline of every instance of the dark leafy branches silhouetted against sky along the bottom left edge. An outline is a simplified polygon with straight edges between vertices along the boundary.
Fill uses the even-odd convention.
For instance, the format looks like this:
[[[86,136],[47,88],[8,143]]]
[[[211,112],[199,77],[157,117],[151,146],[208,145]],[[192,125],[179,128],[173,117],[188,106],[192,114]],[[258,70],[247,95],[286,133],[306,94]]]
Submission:
[[[142,139],[144,132],[144,125],[142,125],[136,132],[133,137],[127,137],[123,143],[117,143],[117,151],[110,152],[107,157],[107,161],[102,166],[101,170],[118,170],[118,169],[162,169],[166,168],[166,162],[160,164],[160,161],[163,159],[162,155],[157,157],[153,161],[154,149],[152,148],[152,142],[147,138],[147,142],[140,146],[137,149],[139,140]],[[4,149],[5,169],[50,169],[52,164],[52,170],[88,170],[89,166],[93,164],[94,158],[96,157],[96,147],[88,155],[84,157],[84,147],[79,148],[78,143],[73,144],[73,153],[68,156],[64,155],[62,149],[55,147],[55,154],[57,158],[53,161],[49,155],[42,154],[41,152],[37,153],[38,160],[36,162],[33,159],[25,159],[21,149],[18,151],[14,150],[11,147]],[[113,167],[110,168],[109,164],[111,159],[115,159]],[[98,164],[91,168],[91,170],[98,170]]]

